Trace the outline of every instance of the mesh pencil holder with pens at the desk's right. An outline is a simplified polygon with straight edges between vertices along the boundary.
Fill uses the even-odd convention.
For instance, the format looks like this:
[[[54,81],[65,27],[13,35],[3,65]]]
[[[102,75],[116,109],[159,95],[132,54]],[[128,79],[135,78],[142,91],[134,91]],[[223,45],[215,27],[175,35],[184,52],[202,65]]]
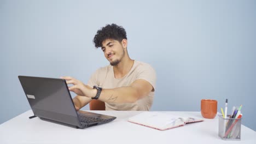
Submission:
[[[219,137],[223,140],[241,140],[241,119],[219,116]]]

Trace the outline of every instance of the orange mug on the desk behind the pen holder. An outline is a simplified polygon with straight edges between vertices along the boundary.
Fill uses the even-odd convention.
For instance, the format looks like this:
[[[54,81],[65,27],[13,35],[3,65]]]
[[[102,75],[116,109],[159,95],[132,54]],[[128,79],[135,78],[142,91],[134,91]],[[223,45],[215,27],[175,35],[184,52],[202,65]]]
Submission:
[[[204,118],[214,118],[217,114],[217,100],[202,99],[201,114]]]

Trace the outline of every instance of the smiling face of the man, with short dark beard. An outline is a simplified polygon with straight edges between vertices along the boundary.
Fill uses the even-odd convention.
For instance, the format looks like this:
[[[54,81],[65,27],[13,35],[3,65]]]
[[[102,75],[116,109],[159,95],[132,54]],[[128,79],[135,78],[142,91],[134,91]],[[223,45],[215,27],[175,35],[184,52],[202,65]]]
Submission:
[[[125,55],[124,46],[118,40],[104,40],[101,50],[111,65],[117,65]]]

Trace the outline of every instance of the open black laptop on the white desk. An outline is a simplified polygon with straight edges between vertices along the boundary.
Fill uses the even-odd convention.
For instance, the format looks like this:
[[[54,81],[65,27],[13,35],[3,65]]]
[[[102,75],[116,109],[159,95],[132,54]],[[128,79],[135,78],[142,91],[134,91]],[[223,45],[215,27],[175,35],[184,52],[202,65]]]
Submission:
[[[44,121],[82,129],[108,123],[116,118],[75,110],[71,94],[64,79],[32,76],[18,77],[34,113],[32,117],[39,117]]]

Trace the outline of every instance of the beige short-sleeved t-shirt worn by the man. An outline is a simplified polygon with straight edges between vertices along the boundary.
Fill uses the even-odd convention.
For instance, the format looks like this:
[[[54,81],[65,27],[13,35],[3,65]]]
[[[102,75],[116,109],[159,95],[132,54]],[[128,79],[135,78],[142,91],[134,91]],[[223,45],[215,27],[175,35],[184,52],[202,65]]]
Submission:
[[[148,81],[153,86],[153,92],[150,92],[146,97],[137,100],[135,103],[105,103],[106,110],[119,110],[119,111],[148,111],[153,104],[155,95],[155,70],[147,63],[134,61],[130,71],[121,79],[115,79],[114,69],[112,65],[97,69],[92,74],[88,85],[98,86],[104,88],[118,88],[130,86],[132,82],[138,79]]]

